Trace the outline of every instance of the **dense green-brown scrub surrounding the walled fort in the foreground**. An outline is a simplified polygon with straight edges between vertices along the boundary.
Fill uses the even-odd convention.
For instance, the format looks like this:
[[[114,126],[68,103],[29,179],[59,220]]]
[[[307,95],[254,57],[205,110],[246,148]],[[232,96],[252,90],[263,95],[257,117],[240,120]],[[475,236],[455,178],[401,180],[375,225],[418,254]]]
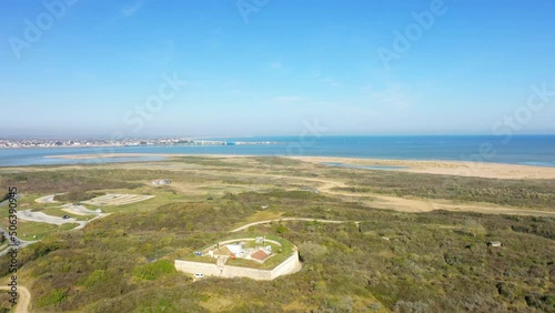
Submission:
[[[49,312],[105,312],[108,305],[133,312],[172,307],[170,303],[194,312],[202,307],[205,294],[238,299],[230,310],[243,307],[246,302],[241,299],[248,299],[266,312],[293,302],[320,311],[353,312],[552,307],[555,244],[546,232],[555,229],[553,219],[442,211],[411,214],[319,195],[296,205],[296,195],[244,193],[233,196],[240,200],[172,203],[154,211],[117,213],[82,231],[56,235],[21,252],[23,271],[34,281],[33,301]],[[356,226],[283,221],[229,233],[230,223],[258,212],[241,200],[269,198],[280,203],[280,211],[297,216],[345,219],[343,214],[350,214],[365,222]],[[287,231],[280,233],[280,225]],[[283,238],[283,251],[296,244],[303,270],[271,282],[209,277],[190,284],[173,267],[172,260],[208,244],[260,234]],[[493,240],[502,241],[502,246],[487,246]],[[480,292],[470,295],[468,290]]]

